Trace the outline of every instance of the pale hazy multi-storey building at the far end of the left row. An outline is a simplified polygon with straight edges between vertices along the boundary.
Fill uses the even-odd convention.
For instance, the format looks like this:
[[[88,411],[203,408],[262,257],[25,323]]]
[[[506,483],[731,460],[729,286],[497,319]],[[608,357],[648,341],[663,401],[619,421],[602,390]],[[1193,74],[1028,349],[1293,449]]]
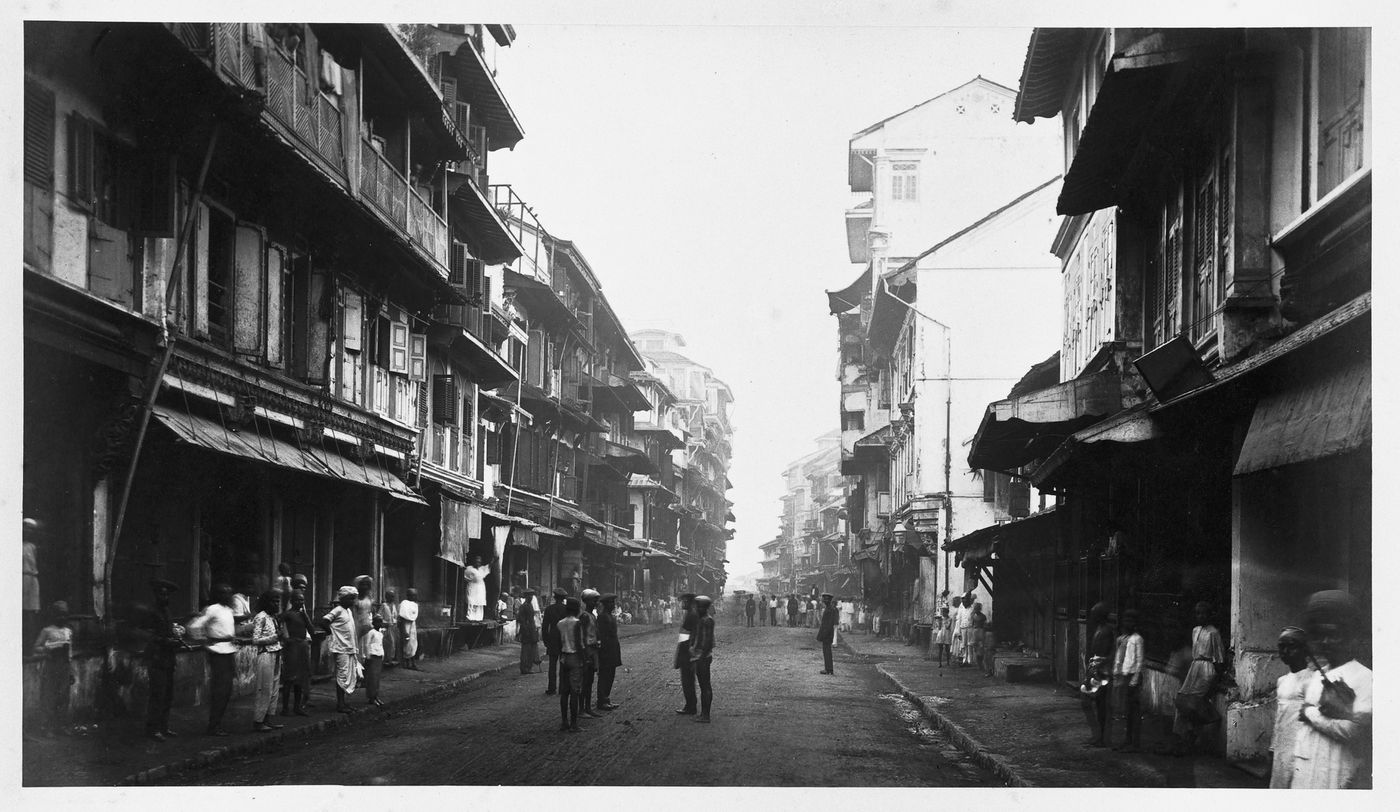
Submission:
[[[678,535],[676,556],[687,567],[694,592],[724,594],[728,542],[734,521],[728,500],[734,395],[714,372],[678,350],[685,339],[659,329],[631,333],[641,354],[654,364],[648,371],[675,396],[672,406],[686,427],[686,445],[671,452],[675,476]]]

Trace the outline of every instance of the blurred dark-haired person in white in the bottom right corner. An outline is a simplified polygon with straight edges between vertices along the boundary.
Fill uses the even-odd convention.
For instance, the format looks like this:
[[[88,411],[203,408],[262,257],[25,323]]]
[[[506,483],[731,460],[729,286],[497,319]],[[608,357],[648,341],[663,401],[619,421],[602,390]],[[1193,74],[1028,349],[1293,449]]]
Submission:
[[[1371,669],[1357,661],[1361,605],[1341,589],[1313,592],[1303,609],[1317,669],[1303,686],[1294,741],[1294,790],[1371,788]]]

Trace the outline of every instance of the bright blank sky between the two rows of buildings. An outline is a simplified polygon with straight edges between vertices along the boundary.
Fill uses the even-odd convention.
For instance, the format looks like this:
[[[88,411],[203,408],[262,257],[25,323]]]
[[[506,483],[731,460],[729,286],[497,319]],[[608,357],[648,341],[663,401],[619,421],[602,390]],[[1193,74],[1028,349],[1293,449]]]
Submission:
[[[837,421],[847,141],[977,74],[1015,87],[1026,28],[517,25],[525,127],[491,154],[588,258],[627,329],[659,326],[734,389],[729,573],[778,531],[783,468]],[[1036,126],[1054,126],[1039,123]]]

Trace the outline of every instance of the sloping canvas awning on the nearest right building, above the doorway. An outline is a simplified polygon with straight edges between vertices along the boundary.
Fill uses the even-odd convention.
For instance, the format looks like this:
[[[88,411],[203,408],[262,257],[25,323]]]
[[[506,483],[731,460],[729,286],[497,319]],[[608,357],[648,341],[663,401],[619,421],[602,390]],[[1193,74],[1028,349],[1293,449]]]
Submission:
[[[1371,358],[1351,357],[1254,406],[1235,476],[1366,445],[1371,445]]]

